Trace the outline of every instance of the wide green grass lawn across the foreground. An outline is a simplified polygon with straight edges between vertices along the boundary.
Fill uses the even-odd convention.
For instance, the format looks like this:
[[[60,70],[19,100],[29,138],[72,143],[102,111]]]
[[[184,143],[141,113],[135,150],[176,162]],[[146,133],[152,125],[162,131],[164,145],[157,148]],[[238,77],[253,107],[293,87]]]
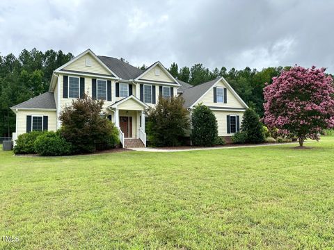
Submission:
[[[333,249],[334,137],[305,145],[0,151],[0,249]]]

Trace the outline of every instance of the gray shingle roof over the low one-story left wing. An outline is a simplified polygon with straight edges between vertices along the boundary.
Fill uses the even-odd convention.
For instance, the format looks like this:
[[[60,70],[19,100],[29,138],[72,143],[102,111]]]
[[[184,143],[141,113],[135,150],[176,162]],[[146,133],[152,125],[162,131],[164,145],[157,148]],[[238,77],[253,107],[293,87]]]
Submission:
[[[56,109],[56,102],[54,101],[54,93],[46,92],[40,94],[38,97],[33,97],[28,101],[19,103],[12,108],[42,108],[42,109]]]

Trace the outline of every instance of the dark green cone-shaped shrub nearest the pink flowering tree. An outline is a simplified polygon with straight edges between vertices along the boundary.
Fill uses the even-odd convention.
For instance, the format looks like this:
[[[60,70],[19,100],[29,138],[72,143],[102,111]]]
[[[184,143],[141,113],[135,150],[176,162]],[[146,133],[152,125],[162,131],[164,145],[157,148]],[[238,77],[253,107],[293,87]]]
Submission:
[[[245,133],[246,143],[264,142],[263,127],[253,108],[248,108],[243,116],[241,131]]]

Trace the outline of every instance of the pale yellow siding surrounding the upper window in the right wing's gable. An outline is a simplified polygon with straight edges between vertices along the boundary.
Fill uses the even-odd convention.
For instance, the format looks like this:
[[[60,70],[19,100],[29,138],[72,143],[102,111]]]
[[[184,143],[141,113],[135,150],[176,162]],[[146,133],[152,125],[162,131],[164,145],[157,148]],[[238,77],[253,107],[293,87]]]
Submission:
[[[216,87],[227,88],[223,81],[219,81],[216,84]],[[202,97],[198,103],[202,102],[206,106],[214,106],[214,107],[228,107],[228,108],[245,108],[240,101],[234,97],[234,94],[227,90],[227,98],[228,103],[214,103],[214,88],[211,88],[204,97]]]

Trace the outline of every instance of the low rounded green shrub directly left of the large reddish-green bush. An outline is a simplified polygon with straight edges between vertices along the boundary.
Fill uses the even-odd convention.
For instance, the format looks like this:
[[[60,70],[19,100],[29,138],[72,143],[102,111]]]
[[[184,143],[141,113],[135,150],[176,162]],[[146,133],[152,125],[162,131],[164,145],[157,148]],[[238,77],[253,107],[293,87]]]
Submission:
[[[72,153],[72,144],[54,131],[38,136],[33,146],[40,156],[67,156]]]

